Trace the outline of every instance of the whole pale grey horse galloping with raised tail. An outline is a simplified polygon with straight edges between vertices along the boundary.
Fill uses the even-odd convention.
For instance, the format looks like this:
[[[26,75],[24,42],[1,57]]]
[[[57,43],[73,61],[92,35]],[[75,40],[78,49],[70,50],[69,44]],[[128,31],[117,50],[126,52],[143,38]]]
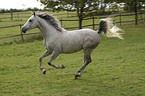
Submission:
[[[75,79],[81,76],[85,67],[92,61],[91,52],[100,43],[99,34],[103,34],[107,37],[118,37],[123,39],[120,35],[120,28],[113,25],[111,18],[101,19],[99,22],[99,29],[97,31],[91,29],[80,29],[67,31],[62,28],[58,20],[47,13],[33,13],[28,21],[22,26],[21,31],[26,33],[26,31],[39,28],[46,51],[40,56],[40,70],[43,74],[46,70],[42,66],[42,59],[51,54],[48,60],[48,65],[54,68],[65,68],[64,65],[57,66],[51,62],[61,53],[74,53],[80,50],[84,52],[83,65],[77,70],[75,74]]]

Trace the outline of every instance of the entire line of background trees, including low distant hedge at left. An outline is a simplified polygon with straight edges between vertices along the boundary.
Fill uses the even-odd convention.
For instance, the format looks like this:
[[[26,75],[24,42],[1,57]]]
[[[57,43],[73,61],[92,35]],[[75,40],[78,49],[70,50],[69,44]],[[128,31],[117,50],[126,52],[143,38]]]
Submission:
[[[109,13],[106,9],[112,9],[115,11],[119,9],[119,4],[124,4],[123,8],[125,11],[132,11],[136,13],[137,21],[137,11],[145,7],[145,0],[37,0],[41,2],[45,8],[27,8],[23,9],[1,9],[1,13],[6,12],[22,12],[22,11],[75,11],[76,16],[79,19],[79,28],[82,29],[82,21],[88,16],[93,16],[96,14]],[[108,7],[108,8],[107,8]],[[110,11],[110,12],[111,12]],[[118,10],[119,11],[119,10]]]

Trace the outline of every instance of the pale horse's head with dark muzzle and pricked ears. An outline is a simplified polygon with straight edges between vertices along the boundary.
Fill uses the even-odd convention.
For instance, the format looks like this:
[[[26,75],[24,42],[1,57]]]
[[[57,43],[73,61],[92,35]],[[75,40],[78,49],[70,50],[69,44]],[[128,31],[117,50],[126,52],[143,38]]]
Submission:
[[[36,20],[36,14],[34,12],[32,16],[27,20],[27,22],[22,26],[21,31],[23,33],[26,33],[26,31],[37,27],[38,27],[38,23]]]

